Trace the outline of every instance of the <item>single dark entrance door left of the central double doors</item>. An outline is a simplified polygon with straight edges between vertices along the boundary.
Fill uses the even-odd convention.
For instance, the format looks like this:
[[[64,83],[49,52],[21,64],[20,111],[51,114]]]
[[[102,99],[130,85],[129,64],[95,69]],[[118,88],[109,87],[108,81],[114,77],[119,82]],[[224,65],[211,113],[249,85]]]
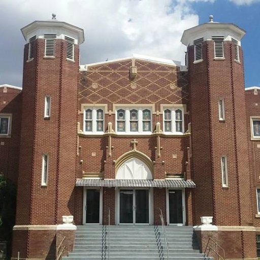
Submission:
[[[100,189],[86,190],[86,223],[100,223]]]

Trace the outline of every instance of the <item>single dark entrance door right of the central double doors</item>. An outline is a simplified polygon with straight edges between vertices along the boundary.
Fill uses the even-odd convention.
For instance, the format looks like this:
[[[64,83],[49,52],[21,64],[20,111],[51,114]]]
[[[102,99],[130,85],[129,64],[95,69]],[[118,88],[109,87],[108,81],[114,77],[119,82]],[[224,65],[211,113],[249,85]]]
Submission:
[[[169,190],[169,222],[170,224],[183,224],[182,190]]]

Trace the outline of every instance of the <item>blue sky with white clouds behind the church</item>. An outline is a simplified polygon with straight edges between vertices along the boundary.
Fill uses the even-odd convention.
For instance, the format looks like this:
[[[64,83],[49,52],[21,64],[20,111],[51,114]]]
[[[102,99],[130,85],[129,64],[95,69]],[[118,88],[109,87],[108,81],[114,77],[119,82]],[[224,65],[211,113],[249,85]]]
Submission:
[[[19,8],[17,8],[19,6]],[[85,31],[81,64],[132,56],[179,60],[183,30],[208,22],[235,23],[242,40],[245,86],[260,86],[260,0],[0,0],[0,85],[22,85],[20,28],[35,20],[57,19]]]

